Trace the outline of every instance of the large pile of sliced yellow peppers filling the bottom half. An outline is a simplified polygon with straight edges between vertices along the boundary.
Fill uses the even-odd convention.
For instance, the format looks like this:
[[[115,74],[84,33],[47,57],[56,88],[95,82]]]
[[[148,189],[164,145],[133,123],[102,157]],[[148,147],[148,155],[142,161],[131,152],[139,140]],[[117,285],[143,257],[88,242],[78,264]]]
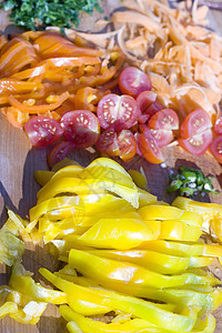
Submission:
[[[53,303],[61,304],[71,333],[214,332],[210,311],[222,303],[222,290],[206,266],[222,256],[222,246],[200,236],[204,221],[222,240],[221,221],[214,223],[221,205],[184,198],[160,203],[105,158],[87,168],[37,171],[36,178],[42,189],[30,221],[9,211],[0,231],[7,232],[0,259],[13,263],[9,286],[1,287],[1,316],[34,324]],[[61,291],[41,286],[24,270],[19,234],[36,243],[43,238],[59,253],[63,268],[40,273]]]

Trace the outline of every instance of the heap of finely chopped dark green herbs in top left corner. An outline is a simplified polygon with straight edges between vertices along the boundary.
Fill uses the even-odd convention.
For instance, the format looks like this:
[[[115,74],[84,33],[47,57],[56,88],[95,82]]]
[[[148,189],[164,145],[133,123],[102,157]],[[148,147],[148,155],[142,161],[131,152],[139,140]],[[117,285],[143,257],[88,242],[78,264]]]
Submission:
[[[7,0],[1,8],[11,10],[10,19],[30,30],[44,30],[47,26],[71,28],[79,26],[80,12],[92,14],[95,8],[102,11],[102,0]]]

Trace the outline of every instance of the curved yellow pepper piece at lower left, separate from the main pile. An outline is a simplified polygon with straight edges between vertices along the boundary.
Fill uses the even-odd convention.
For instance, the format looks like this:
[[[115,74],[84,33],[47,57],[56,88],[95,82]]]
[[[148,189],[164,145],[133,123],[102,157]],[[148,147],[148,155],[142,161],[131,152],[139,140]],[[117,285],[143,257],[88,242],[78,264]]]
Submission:
[[[43,287],[31,278],[32,273],[24,270],[20,263],[16,263],[12,269],[9,285],[37,301],[62,304],[67,302],[64,293]]]

